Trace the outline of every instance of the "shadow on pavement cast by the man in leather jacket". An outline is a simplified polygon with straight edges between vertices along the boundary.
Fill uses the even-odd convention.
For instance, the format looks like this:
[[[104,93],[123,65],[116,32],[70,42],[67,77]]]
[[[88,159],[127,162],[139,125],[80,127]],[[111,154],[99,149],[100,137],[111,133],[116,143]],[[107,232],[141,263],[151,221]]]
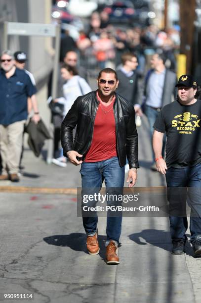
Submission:
[[[73,251],[88,253],[86,250],[86,234],[72,233],[70,235],[53,235],[43,238],[44,242],[49,245],[70,247]],[[100,247],[99,255],[105,258],[105,241],[106,236],[98,235]]]

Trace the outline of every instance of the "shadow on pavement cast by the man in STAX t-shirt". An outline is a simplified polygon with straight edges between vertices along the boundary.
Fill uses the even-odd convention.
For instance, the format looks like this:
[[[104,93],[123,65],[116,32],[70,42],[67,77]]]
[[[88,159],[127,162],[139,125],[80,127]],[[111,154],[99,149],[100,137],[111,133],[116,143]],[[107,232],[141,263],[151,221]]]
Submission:
[[[158,229],[144,229],[140,233],[134,233],[128,236],[130,240],[139,245],[147,245],[148,243],[157,246],[165,251],[171,251],[170,232]],[[143,238],[145,242],[142,242]]]

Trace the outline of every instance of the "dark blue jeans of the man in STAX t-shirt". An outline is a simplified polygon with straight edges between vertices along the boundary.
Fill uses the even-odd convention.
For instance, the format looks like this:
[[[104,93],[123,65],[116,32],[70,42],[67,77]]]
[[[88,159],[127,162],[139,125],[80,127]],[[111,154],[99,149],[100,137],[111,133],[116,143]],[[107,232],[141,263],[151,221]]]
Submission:
[[[191,207],[190,232],[191,242],[193,242],[196,236],[201,235],[201,164],[193,167],[186,166],[182,169],[168,168],[166,171],[166,182],[167,187],[180,187],[178,192],[172,189],[174,194],[170,193],[169,195],[170,205],[171,202],[175,203],[174,196],[176,194],[175,197],[177,197],[177,203],[180,204],[181,211],[185,211],[184,208],[188,199],[187,201]],[[184,187],[189,187],[188,191]],[[188,228],[186,215],[180,217],[170,215],[169,221],[172,240],[187,240],[185,235]]]

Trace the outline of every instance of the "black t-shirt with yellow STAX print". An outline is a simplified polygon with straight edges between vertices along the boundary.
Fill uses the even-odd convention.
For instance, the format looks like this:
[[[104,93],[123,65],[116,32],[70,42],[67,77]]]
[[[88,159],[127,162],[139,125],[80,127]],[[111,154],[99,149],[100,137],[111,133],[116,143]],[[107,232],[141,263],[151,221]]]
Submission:
[[[165,105],[154,129],[167,135],[166,164],[176,168],[201,163],[201,100],[191,105]]]

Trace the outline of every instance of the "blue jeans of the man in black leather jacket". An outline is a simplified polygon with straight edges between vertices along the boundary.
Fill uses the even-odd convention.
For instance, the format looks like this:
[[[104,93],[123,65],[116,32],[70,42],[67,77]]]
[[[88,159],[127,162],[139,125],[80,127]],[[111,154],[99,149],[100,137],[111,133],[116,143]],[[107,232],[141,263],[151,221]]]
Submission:
[[[120,167],[118,157],[112,157],[99,162],[82,162],[81,163],[81,186],[90,189],[91,193],[99,192],[103,180],[105,180],[106,192],[107,188],[119,188],[123,190],[124,184],[124,166]],[[115,189],[115,190],[116,190]],[[87,192],[88,193],[88,192]],[[97,231],[98,216],[97,213],[93,217],[82,217],[83,227],[87,235],[94,235]],[[107,241],[114,240],[119,243],[121,235],[122,214],[118,217],[111,216],[107,213]]]

